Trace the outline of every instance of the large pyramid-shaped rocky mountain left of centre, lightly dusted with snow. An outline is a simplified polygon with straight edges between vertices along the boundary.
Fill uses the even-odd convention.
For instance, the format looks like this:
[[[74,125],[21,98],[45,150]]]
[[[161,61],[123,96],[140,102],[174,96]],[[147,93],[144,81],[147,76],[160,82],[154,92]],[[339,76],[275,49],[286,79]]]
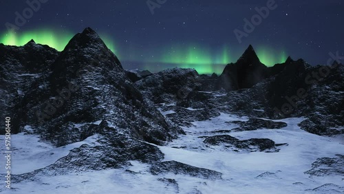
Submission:
[[[76,34],[50,68],[51,74],[34,80],[14,106],[17,131],[32,125],[60,146],[81,140],[80,133],[92,134],[92,123],[98,121],[156,144],[181,132],[147,103],[118,58],[90,28]]]

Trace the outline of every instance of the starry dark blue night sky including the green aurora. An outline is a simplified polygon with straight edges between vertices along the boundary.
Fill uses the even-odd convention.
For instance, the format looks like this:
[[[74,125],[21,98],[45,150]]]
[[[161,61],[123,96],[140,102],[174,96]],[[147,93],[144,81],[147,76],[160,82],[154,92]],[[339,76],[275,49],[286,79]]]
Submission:
[[[341,0],[28,1],[40,6],[35,3],[33,10],[26,1],[0,0],[1,43],[23,45],[34,39],[61,51],[74,34],[91,27],[125,69],[193,67],[221,73],[250,44],[267,66],[288,56],[311,65],[325,64],[329,52],[344,56]],[[254,17],[255,8],[267,4],[273,9],[263,12],[265,18]],[[17,25],[16,12],[28,19],[17,19]],[[246,33],[244,19],[252,23],[252,17],[257,25]],[[235,29],[246,34],[241,43]]]

